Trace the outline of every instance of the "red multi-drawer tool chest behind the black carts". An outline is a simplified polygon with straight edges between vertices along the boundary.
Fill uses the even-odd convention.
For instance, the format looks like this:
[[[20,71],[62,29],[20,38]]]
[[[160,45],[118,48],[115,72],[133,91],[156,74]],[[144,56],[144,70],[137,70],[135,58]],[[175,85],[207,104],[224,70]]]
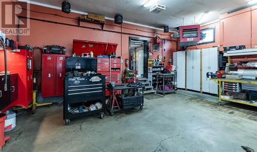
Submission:
[[[105,75],[105,84],[109,82],[121,83],[121,57],[97,58],[97,73]],[[105,90],[105,96],[109,91]]]

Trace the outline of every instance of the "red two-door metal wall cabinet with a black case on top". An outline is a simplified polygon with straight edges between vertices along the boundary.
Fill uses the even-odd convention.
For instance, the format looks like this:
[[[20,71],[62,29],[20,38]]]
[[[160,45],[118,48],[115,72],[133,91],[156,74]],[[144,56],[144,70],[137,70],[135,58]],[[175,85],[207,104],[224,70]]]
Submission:
[[[41,97],[63,95],[63,77],[65,74],[65,55],[42,55]]]

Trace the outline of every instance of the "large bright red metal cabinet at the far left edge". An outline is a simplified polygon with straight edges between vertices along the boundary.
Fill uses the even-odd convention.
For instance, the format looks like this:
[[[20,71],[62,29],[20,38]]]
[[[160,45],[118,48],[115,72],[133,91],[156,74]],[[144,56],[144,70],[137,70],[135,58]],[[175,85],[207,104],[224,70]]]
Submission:
[[[33,59],[32,52],[17,49],[15,52],[7,51],[7,71],[18,74],[18,98],[12,101],[2,112],[13,106],[27,108],[33,96]],[[0,71],[4,71],[4,51],[0,50]]]

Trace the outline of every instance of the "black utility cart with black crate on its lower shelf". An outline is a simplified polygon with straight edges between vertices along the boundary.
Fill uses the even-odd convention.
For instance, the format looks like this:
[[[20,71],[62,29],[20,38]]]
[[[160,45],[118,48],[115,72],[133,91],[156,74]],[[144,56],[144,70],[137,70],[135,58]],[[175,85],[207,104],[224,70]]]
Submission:
[[[106,110],[112,116],[115,112],[123,111],[128,108],[140,107],[143,109],[144,96],[139,92],[139,88],[144,90],[145,86],[127,86],[127,84],[108,85],[110,98],[106,104]],[[128,93],[125,93],[128,90]],[[121,94],[120,94],[121,93]]]

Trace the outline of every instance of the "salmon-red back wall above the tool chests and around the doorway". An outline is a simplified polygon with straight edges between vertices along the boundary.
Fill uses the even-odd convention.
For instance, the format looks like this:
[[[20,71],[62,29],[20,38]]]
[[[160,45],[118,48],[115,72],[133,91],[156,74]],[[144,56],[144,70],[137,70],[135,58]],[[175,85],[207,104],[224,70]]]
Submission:
[[[57,21],[65,24],[78,25],[78,17],[81,14],[77,13],[63,13],[61,10],[51,9],[47,7],[30,5],[30,17],[44,20]],[[35,12],[36,11],[36,12]],[[40,13],[40,12],[47,12]],[[57,15],[52,15],[57,14]],[[67,18],[68,17],[68,18]],[[100,25],[89,24],[89,23],[81,23],[81,26],[98,28],[101,29]],[[104,30],[109,31],[117,31],[123,33],[130,34],[120,34],[115,32],[107,32],[102,30],[93,30],[86,29],[81,27],[72,27],[67,25],[53,24],[47,23],[44,21],[32,20],[30,19],[30,35],[29,36],[20,36],[20,43],[25,45],[31,45],[32,47],[39,46],[43,48],[45,45],[60,45],[64,46],[67,49],[66,56],[72,55],[72,40],[73,39],[81,39],[81,40],[91,40],[91,41],[102,41],[102,42],[111,42],[118,44],[116,54],[117,56],[122,56],[123,60],[128,58],[128,39],[129,37],[141,37],[141,38],[149,38],[156,36],[155,33],[160,38],[170,39],[171,33],[163,33],[163,31],[150,29],[146,27],[125,24],[121,25],[114,24],[113,20],[106,20],[106,25],[104,26]],[[133,34],[142,35],[135,36]],[[11,37],[15,39],[16,37]],[[149,38],[152,40],[152,38]],[[176,51],[176,42],[166,41],[166,58],[165,63],[168,62],[169,58],[172,58],[172,53]],[[154,52],[153,56],[150,58],[156,58],[158,54],[162,54],[163,52],[158,51]],[[34,60],[38,62],[34,62],[34,68],[40,69],[40,54],[38,52],[34,52]],[[123,63],[124,68],[124,63]]]

